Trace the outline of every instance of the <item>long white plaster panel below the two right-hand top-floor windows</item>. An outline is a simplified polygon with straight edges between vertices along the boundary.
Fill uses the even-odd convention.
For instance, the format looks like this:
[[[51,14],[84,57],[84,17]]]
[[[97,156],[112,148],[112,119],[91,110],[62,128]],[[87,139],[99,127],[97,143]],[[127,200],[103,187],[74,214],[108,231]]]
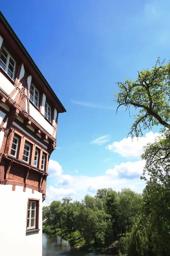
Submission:
[[[45,118],[39,113],[39,111],[37,111],[36,108],[34,108],[31,103],[29,103],[29,114],[39,125],[42,126],[42,128],[44,128],[45,131],[47,131],[52,136],[52,125],[50,125],[49,122],[45,120]]]

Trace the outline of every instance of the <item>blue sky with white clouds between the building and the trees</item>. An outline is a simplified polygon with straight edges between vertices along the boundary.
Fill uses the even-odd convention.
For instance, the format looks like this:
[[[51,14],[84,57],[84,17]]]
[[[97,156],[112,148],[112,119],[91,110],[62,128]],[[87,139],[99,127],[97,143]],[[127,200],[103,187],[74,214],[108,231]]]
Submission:
[[[65,195],[81,199],[107,186],[142,192],[139,153],[155,135],[136,144],[124,139],[133,119],[123,108],[115,114],[113,93],[116,81],[135,79],[159,56],[169,60],[169,9],[168,0],[1,3],[3,15],[67,110],[59,115],[47,203]],[[134,171],[127,175],[129,169]]]

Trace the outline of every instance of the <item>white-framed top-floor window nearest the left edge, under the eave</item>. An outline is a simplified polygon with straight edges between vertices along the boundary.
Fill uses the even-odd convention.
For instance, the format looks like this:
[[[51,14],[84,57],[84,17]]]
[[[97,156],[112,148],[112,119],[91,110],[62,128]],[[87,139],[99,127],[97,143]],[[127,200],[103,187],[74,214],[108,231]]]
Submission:
[[[5,48],[3,48],[0,57],[0,66],[5,70],[8,76],[11,77],[11,79],[14,79],[16,62]]]

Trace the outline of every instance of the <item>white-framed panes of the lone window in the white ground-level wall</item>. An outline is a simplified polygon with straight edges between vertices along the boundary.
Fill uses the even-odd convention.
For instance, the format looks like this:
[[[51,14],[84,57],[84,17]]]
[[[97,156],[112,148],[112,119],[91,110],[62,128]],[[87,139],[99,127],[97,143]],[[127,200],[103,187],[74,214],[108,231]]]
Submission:
[[[36,228],[36,207],[37,201],[28,200],[27,230]]]

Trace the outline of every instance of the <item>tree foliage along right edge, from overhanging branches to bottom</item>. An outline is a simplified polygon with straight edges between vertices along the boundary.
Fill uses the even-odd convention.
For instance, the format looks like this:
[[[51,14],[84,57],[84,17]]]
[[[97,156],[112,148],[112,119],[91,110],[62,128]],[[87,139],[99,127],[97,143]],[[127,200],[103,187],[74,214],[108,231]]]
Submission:
[[[143,175],[147,173],[149,179],[142,177],[146,187],[139,219],[123,246],[128,255],[170,256],[170,63],[158,58],[153,69],[138,72],[135,81],[125,79],[117,84],[117,111],[122,105],[129,113],[131,107],[138,110],[129,134],[139,137],[153,125],[161,125],[164,132],[144,148]]]

